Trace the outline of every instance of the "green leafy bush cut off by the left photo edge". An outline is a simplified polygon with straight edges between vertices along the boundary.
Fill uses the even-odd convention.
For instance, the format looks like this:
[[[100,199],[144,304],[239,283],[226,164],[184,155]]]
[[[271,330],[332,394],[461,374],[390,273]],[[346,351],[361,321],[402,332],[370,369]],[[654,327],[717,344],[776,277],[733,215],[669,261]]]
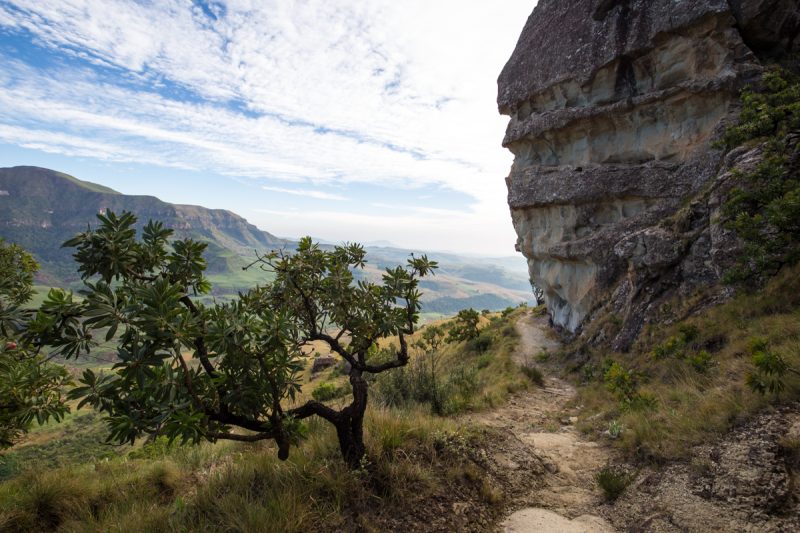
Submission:
[[[46,362],[23,335],[31,318],[23,306],[38,268],[22,248],[0,240],[0,448],[14,444],[34,422],[60,420],[68,411],[61,390],[69,374]]]

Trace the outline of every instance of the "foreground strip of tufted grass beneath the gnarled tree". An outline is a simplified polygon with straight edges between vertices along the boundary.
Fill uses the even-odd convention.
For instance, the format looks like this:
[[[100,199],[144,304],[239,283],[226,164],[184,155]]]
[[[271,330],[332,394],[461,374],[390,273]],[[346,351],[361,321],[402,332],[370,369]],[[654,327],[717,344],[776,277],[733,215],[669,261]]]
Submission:
[[[485,475],[448,474],[479,468],[468,458],[475,438],[420,411],[373,408],[360,471],[344,466],[323,422],[286,462],[268,445],[157,443],[0,484],[0,531],[351,530],[445,497],[451,483],[496,505]]]

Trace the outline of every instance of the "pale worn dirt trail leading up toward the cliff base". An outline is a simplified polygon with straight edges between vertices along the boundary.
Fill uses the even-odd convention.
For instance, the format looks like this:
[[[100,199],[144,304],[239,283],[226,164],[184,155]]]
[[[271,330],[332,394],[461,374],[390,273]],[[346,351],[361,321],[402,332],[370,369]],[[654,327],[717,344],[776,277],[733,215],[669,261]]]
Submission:
[[[515,360],[535,364],[542,350],[554,352],[560,346],[544,317],[528,312],[516,324],[520,342]],[[516,395],[495,411],[474,415],[472,420],[512,433],[532,449],[544,464],[545,483],[514,502],[520,509],[501,525],[507,532],[611,532],[614,528],[593,513],[601,503],[594,482],[595,472],[609,459],[611,451],[585,440],[574,428],[577,420],[570,401],[575,388],[561,379],[547,376],[545,386]]]

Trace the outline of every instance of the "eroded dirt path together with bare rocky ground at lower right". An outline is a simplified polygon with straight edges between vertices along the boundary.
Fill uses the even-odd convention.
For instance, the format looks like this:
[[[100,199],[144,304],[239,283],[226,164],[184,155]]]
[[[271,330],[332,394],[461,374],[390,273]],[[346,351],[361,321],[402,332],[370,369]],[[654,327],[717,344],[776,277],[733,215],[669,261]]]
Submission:
[[[516,328],[517,363],[547,367],[540,354],[555,352],[559,342],[546,318],[529,311]],[[608,463],[625,461],[608,442],[577,431],[575,396],[571,384],[546,375],[543,387],[520,393],[497,410],[471,415],[472,422],[507,434],[506,448],[508,443],[517,448],[511,453],[497,449],[496,464],[507,463],[519,475],[519,465],[502,459],[528,456],[536,464],[525,468],[541,477],[513,492],[511,512],[499,530],[800,531],[800,445],[786,448],[787,442],[800,442],[800,404],[765,410],[714,442],[695,446],[687,460],[662,467],[629,465],[636,470],[635,481],[609,504],[594,476]]]

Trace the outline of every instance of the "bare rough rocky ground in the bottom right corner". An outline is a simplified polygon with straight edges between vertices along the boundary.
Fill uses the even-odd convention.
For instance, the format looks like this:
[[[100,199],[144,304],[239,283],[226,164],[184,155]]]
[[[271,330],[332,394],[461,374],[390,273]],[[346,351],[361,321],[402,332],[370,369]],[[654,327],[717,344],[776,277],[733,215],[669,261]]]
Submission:
[[[605,509],[619,531],[800,530],[797,405],[765,411],[691,460],[645,467]]]

